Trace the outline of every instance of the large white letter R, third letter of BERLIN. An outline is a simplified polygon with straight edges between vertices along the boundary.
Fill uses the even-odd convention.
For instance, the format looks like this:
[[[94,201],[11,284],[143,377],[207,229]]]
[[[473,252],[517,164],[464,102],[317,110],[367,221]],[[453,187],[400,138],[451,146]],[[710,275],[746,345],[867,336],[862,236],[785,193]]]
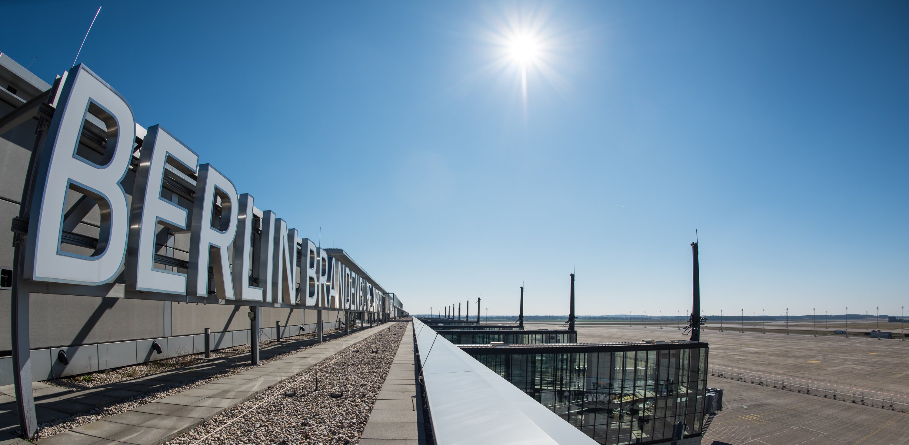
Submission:
[[[221,219],[215,222],[215,197],[221,198]],[[227,246],[236,233],[237,196],[234,183],[207,163],[199,165],[195,183],[192,238],[189,243],[189,276],[186,292],[199,297],[208,296],[208,266],[215,272],[215,292],[218,297],[234,299]]]

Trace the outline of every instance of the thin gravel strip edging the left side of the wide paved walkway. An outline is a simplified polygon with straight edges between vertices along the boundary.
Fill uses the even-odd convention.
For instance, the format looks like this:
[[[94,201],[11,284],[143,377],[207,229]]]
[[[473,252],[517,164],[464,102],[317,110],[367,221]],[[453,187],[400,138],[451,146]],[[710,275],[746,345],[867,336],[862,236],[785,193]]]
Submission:
[[[327,331],[324,333],[327,333]],[[340,339],[340,338],[344,338],[344,337],[338,337],[338,338]],[[332,339],[332,340],[336,340],[336,339]],[[332,340],[328,340],[325,342],[327,343]],[[302,346],[298,349],[295,349],[294,351],[288,351],[283,354],[275,355],[274,357],[271,357],[271,358],[265,359],[265,360],[261,360],[259,362],[268,363],[270,361],[275,361],[275,360],[284,358],[288,355],[295,354],[299,351],[307,350],[316,345],[318,345],[318,343],[307,345],[307,346]],[[232,349],[238,350],[241,348],[242,347],[238,346],[238,347],[232,348]],[[249,345],[246,345],[245,349],[248,352]],[[222,350],[222,351],[226,351],[226,350]],[[177,394],[177,393],[180,393],[180,392],[183,392],[183,391],[186,391],[186,390],[198,387],[198,386],[202,386],[205,383],[212,383],[212,382],[217,381],[218,379],[223,379],[225,377],[229,377],[231,375],[249,370],[251,368],[255,368],[255,367],[251,366],[251,365],[235,366],[228,370],[225,370],[224,372],[213,374],[208,377],[201,378],[199,380],[184,381],[184,382],[180,382],[175,385],[172,385],[172,386],[162,388],[159,391],[146,392],[145,394],[141,394],[141,395],[137,395],[135,397],[129,398],[129,399],[125,399],[124,401],[122,401],[120,403],[115,403],[112,405],[107,405],[105,407],[96,408],[95,410],[85,411],[85,412],[75,414],[70,417],[66,417],[64,419],[52,420],[52,421],[45,422],[45,423],[39,423],[38,430],[35,433],[34,440],[45,439],[45,438],[51,437],[55,434],[59,434],[63,431],[72,430],[76,427],[85,425],[86,423],[91,423],[95,420],[102,420],[102,419],[105,419],[106,417],[114,416],[116,414],[120,414],[121,412],[125,412],[127,410],[132,410],[136,407],[145,405],[146,403],[158,401],[160,399],[164,399],[167,396],[171,396],[171,395],[174,395],[174,394]],[[57,379],[57,380],[61,380],[61,379]],[[50,383],[51,381],[47,381],[47,382]],[[62,385],[58,385],[58,386],[62,386]],[[79,388],[75,388],[75,389],[82,390],[85,388],[79,387]],[[16,430],[14,434],[21,435],[21,432],[19,430]]]

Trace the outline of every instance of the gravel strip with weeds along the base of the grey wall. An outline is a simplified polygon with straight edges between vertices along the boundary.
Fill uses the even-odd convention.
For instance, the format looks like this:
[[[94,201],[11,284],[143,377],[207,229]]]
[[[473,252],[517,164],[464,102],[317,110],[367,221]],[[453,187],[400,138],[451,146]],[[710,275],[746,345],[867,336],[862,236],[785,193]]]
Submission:
[[[325,330],[323,335],[328,335],[330,333],[340,330]],[[314,339],[316,336],[315,333],[305,333],[303,335],[297,335],[295,337],[285,337],[281,339],[282,341],[296,341],[296,340],[307,340]],[[268,340],[268,341],[259,341],[259,349],[264,349],[267,346],[275,344],[277,341]],[[247,343],[241,346],[235,346],[233,348],[225,348],[221,350],[211,351],[211,359],[221,359],[225,357],[230,357],[232,355],[238,354],[248,354],[250,345]],[[125,366],[123,368],[117,368],[114,370],[105,370],[105,371],[96,371],[88,372],[85,374],[79,374],[68,377],[61,377],[59,379],[53,379],[45,381],[49,385],[59,386],[62,388],[68,388],[70,390],[87,390],[89,388],[95,388],[97,386],[103,386],[110,383],[117,383],[120,381],[128,381],[130,379],[138,379],[140,377],[145,377],[146,375],[156,374],[158,372],[164,371],[174,371],[177,368],[182,368],[186,366],[193,366],[195,364],[205,363],[205,353],[198,354],[187,354],[180,357],[174,357],[172,359],[164,359],[158,361],[148,361],[145,363],[139,363],[135,365]]]

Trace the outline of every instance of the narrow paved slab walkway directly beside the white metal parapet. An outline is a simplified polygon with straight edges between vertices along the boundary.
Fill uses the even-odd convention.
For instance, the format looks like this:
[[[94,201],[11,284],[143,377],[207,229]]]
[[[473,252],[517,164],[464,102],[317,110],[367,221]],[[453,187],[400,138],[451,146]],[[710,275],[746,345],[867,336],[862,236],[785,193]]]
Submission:
[[[391,371],[379,391],[360,445],[417,445],[414,323],[407,323]],[[422,410],[422,408],[421,408]]]

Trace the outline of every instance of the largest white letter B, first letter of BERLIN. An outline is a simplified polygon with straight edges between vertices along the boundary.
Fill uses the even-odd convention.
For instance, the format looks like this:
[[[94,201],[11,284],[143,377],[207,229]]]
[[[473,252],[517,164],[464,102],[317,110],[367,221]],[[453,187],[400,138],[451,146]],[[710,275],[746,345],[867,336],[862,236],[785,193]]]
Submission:
[[[85,114],[101,121],[108,138],[97,163],[80,155]],[[97,118],[97,119],[95,119]],[[41,282],[102,284],[116,278],[126,254],[129,209],[120,186],[133,153],[133,110],[114,88],[84,65],[72,68],[57,102],[37,165],[25,247],[25,278]],[[85,194],[101,210],[98,244],[91,255],[63,252],[64,206],[69,190]]]

